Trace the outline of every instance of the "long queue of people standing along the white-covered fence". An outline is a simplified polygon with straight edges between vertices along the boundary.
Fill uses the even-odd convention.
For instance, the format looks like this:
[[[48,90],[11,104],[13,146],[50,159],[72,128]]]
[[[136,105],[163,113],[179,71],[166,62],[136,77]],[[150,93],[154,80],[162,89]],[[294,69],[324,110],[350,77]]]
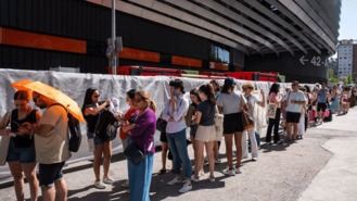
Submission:
[[[252,161],[257,161],[259,136],[256,135],[253,114],[256,106],[267,110],[266,142],[270,146],[271,140],[278,145],[303,139],[311,121],[318,124],[323,122],[326,111],[341,114],[348,112],[357,97],[356,88],[345,87],[341,91],[335,86],[329,90],[322,84],[321,87],[310,89],[308,86],[299,86],[298,81],[293,81],[292,88],[285,92],[281,92],[279,84],[272,84],[268,95],[263,90],[257,93],[254,90],[255,87],[251,83],[244,84],[242,91],[238,90],[233,78],[226,78],[221,87],[216,80],[212,80],[192,89],[189,101],[183,97],[182,80],[174,79],[169,83],[170,97],[158,116],[166,121],[165,129],[161,130],[161,174],[167,172],[168,150],[173,159],[174,177],[167,185],[180,185],[178,191],[181,193],[192,190],[194,183],[202,180],[205,175],[205,155],[209,169],[208,180],[215,183],[215,164],[221,163],[219,147],[222,139],[227,158],[227,168],[222,171],[225,175],[234,176],[242,173],[241,162],[247,158],[248,147]],[[41,114],[29,105],[30,96],[27,91],[15,92],[15,110],[8,112],[0,121],[0,164],[9,164],[17,200],[24,200],[23,173],[30,187],[31,201],[38,199],[39,187],[46,201],[66,200],[67,186],[62,169],[71,158],[67,111],[40,93],[34,92],[31,96],[34,103],[44,111]],[[81,111],[87,122],[89,150],[94,159],[93,187],[105,189],[107,185],[115,183],[109,175],[113,139],[97,127],[103,113],[109,111],[111,101],[99,99],[98,89],[87,89]],[[137,89],[127,91],[126,103],[129,108],[127,111],[113,114],[115,121],[120,124],[118,138],[127,156],[128,180],[125,180],[122,187],[135,192],[130,193],[130,200],[149,201],[156,146],[156,105],[146,91]],[[315,115],[311,115],[314,111]],[[280,125],[286,130],[285,137],[279,134]],[[190,142],[194,152],[193,165],[188,151],[187,129],[190,130]],[[237,158],[235,164],[233,156]],[[35,171],[37,163],[38,177]]]

